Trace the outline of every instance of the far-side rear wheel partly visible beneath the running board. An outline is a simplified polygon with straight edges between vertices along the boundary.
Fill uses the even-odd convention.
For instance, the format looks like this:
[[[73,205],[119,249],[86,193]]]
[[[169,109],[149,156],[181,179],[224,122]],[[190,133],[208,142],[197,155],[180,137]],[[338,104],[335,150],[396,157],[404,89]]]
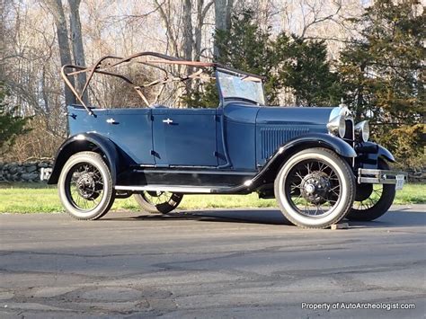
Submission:
[[[183,198],[183,194],[168,191],[142,191],[133,196],[142,209],[152,214],[170,213]]]

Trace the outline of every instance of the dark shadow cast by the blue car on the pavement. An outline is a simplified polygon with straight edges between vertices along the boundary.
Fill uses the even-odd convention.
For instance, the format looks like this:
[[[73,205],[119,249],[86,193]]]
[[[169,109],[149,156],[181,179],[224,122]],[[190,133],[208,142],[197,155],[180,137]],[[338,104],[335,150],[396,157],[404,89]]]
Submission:
[[[137,213],[138,214],[138,213]],[[149,214],[126,217],[102,218],[103,220],[196,220],[201,222],[226,222],[226,223],[251,223],[251,224],[270,224],[287,225],[292,224],[281,214],[278,209],[209,209],[209,210],[178,210],[169,214]],[[426,214],[422,211],[404,211],[403,208],[397,211],[389,211],[383,217],[375,221],[349,221],[350,227],[356,228],[377,228],[377,227],[407,227],[407,226],[426,226]]]

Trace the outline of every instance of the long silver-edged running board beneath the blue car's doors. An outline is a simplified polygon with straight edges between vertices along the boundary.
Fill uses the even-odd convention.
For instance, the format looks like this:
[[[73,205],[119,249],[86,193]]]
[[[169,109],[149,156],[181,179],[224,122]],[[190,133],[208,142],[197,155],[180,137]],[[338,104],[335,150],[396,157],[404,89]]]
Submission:
[[[248,194],[252,191],[248,185],[238,185],[233,187],[214,187],[214,186],[179,186],[179,185],[144,185],[144,186],[121,186],[116,185],[116,191],[170,191],[192,194],[233,194],[244,193]]]

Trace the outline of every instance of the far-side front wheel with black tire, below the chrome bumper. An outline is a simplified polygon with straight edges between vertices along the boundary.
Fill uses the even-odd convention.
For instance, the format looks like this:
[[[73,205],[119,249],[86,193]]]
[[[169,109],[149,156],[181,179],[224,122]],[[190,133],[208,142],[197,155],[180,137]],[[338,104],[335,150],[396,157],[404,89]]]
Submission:
[[[389,170],[389,165],[378,161],[380,170]],[[357,196],[347,218],[357,221],[371,221],[383,216],[395,199],[394,184],[359,184]]]

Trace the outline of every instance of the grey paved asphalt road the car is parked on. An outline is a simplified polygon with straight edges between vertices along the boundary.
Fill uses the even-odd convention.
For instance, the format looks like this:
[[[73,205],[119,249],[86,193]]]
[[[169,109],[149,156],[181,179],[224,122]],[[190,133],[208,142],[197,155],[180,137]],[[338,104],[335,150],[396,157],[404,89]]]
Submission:
[[[334,231],[259,209],[98,222],[4,214],[0,317],[420,318],[425,211],[393,208]],[[406,304],[415,309],[345,308]]]

